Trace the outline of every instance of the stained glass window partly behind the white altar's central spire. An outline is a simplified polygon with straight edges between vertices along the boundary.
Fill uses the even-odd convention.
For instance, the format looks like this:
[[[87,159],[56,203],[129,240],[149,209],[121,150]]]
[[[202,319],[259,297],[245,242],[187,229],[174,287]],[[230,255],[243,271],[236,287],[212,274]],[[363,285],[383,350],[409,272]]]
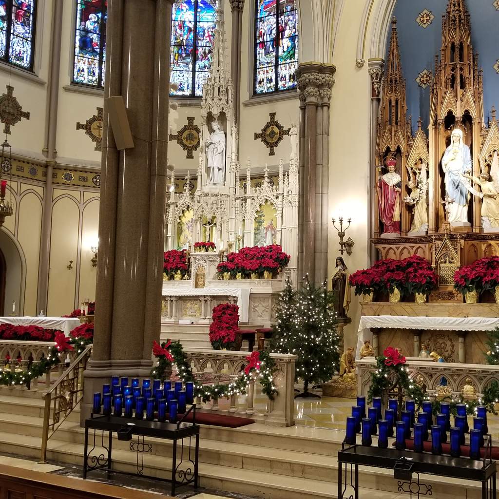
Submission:
[[[177,0],[172,11],[170,95],[201,97],[212,65],[215,0]]]

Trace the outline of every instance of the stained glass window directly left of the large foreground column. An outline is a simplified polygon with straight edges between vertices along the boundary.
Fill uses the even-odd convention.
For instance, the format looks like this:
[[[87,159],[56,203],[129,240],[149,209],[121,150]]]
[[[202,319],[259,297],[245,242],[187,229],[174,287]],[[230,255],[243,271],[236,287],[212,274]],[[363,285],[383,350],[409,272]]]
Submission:
[[[106,20],[107,0],[76,0],[73,83],[104,86]]]

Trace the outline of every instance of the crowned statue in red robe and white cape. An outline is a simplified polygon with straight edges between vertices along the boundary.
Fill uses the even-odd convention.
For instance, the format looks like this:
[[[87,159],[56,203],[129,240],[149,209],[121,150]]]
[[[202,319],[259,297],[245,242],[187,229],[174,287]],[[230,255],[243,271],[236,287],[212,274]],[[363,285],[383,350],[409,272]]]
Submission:
[[[383,223],[383,234],[400,234],[400,193],[402,192],[402,178],[395,171],[397,161],[393,158],[387,160],[388,173],[381,176],[378,170],[379,218]]]

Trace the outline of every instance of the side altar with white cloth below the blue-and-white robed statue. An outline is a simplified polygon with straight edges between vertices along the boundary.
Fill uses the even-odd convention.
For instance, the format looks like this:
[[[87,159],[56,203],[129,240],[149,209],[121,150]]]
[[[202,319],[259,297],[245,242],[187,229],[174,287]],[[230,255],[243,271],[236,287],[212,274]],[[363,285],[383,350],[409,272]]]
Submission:
[[[402,353],[404,355],[417,357],[420,353],[421,342],[427,341],[425,337],[423,337],[423,332],[426,331],[428,332],[427,334],[430,335],[430,331],[435,331],[436,333],[434,333],[434,336],[437,336],[438,338],[433,340],[433,344],[431,345],[431,347],[429,347],[431,350],[438,350],[438,348],[435,348],[435,345],[441,346],[442,348],[447,347],[449,348],[450,355],[454,355],[455,353],[457,353],[457,356],[454,355],[454,357],[457,358],[453,358],[451,359],[451,361],[459,361],[461,363],[470,362],[470,359],[466,358],[466,352],[467,350],[472,348],[472,342],[476,341],[477,339],[471,338],[471,332],[492,331],[498,325],[499,319],[497,317],[424,317],[408,315],[364,315],[360,318],[359,328],[357,331],[358,342],[356,358],[360,359],[360,348],[362,347],[365,340],[371,341],[375,355],[381,355],[383,349],[387,346],[384,343],[383,345],[380,344],[379,335],[382,331],[386,329],[410,329],[412,330],[412,334],[409,333],[411,338],[407,338],[407,342],[405,343],[406,348],[402,348]],[[453,333],[457,336],[457,352],[455,351],[456,348],[453,335],[450,333]],[[400,338],[400,336],[398,336],[397,338]],[[394,334],[392,335],[391,340],[387,339],[387,341],[390,342],[392,346],[398,346],[397,339],[395,338]],[[412,349],[409,348],[408,343],[413,344]],[[480,348],[482,348],[482,352],[485,352],[483,347]],[[442,355],[442,352],[438,353]]]

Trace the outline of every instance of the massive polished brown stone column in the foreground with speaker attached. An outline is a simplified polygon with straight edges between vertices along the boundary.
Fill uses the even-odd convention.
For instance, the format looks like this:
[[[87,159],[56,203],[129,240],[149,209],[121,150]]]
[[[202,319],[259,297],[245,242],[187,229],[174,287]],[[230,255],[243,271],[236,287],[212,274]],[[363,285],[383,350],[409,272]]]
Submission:
[[[111,374],[149,375],[159,340],[172,3],[108,3],[104,97],[123,96],[134,147],[116,149],[104,99],[97,309],[81,421]]]

